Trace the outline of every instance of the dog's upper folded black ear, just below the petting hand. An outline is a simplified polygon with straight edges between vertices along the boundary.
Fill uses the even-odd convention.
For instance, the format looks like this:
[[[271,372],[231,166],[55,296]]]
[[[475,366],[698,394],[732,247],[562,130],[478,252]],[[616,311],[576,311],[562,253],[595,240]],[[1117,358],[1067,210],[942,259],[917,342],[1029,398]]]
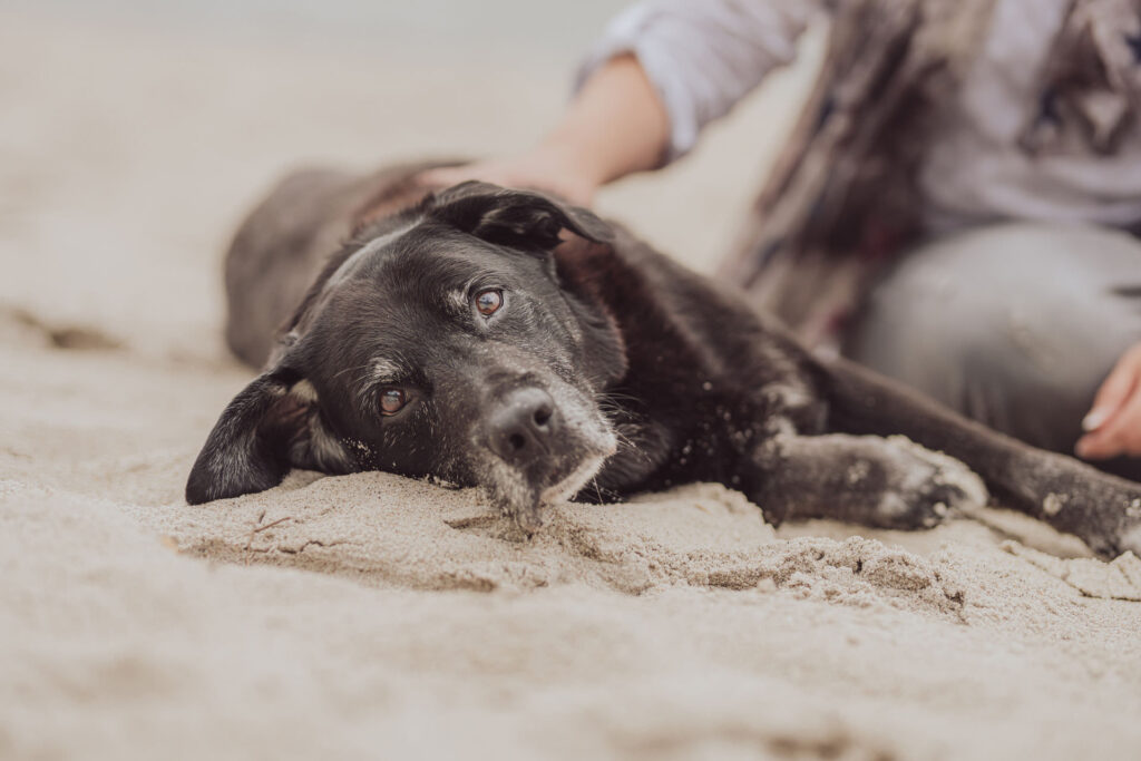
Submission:
[[[429,214],[489,243],[521,249],[553,249],[568,230],[602,243],[610,230],[601,219],[532,191],[512,191],[479,183],[461,183],[436,195]]]

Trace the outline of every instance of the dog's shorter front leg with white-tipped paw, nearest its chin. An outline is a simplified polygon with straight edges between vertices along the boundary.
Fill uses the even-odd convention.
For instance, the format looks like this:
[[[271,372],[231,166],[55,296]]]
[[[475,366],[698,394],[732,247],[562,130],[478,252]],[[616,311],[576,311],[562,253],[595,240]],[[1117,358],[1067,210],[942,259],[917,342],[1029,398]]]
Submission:
[[[928,528],[955,507],[987,500],[961,462],[901,438],[783,434],[758,446],[752,463],[748,496],[774,524],[835,518]]]

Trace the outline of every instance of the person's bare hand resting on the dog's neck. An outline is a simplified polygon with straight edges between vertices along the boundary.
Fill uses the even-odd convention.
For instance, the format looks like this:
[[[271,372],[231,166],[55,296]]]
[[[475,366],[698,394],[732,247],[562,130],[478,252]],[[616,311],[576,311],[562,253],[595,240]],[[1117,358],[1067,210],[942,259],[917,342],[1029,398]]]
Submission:
[[[547,191],[580,207],[591,204],[599,186],[569,152],[548,145],[515,156],[431,169],[420,179],[440,188],[476,179],[504,187]]]

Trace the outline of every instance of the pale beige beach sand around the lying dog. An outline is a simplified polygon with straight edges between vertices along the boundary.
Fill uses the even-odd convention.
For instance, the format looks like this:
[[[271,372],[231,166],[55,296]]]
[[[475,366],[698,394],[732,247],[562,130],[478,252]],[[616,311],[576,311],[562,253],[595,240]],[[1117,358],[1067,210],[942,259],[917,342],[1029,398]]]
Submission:
[[[270,178],[508,149],[564,68],[0,15],[0,758],[1136,759],[1141,561],[1002,511],[774,532],[697,485],[519,543],[383,473],[183,503]],[[710,268],[803,74],[602,209]]]

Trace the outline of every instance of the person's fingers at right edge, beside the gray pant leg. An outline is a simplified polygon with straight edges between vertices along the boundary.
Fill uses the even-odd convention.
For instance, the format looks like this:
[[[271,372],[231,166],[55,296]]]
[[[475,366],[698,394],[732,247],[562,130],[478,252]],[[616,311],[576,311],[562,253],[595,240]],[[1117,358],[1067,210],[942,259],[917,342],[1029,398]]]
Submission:
[[[1141,343],[1117,362],[1082,420],[1089,431],[1074,451],[1085,460],[1141,455]]]

